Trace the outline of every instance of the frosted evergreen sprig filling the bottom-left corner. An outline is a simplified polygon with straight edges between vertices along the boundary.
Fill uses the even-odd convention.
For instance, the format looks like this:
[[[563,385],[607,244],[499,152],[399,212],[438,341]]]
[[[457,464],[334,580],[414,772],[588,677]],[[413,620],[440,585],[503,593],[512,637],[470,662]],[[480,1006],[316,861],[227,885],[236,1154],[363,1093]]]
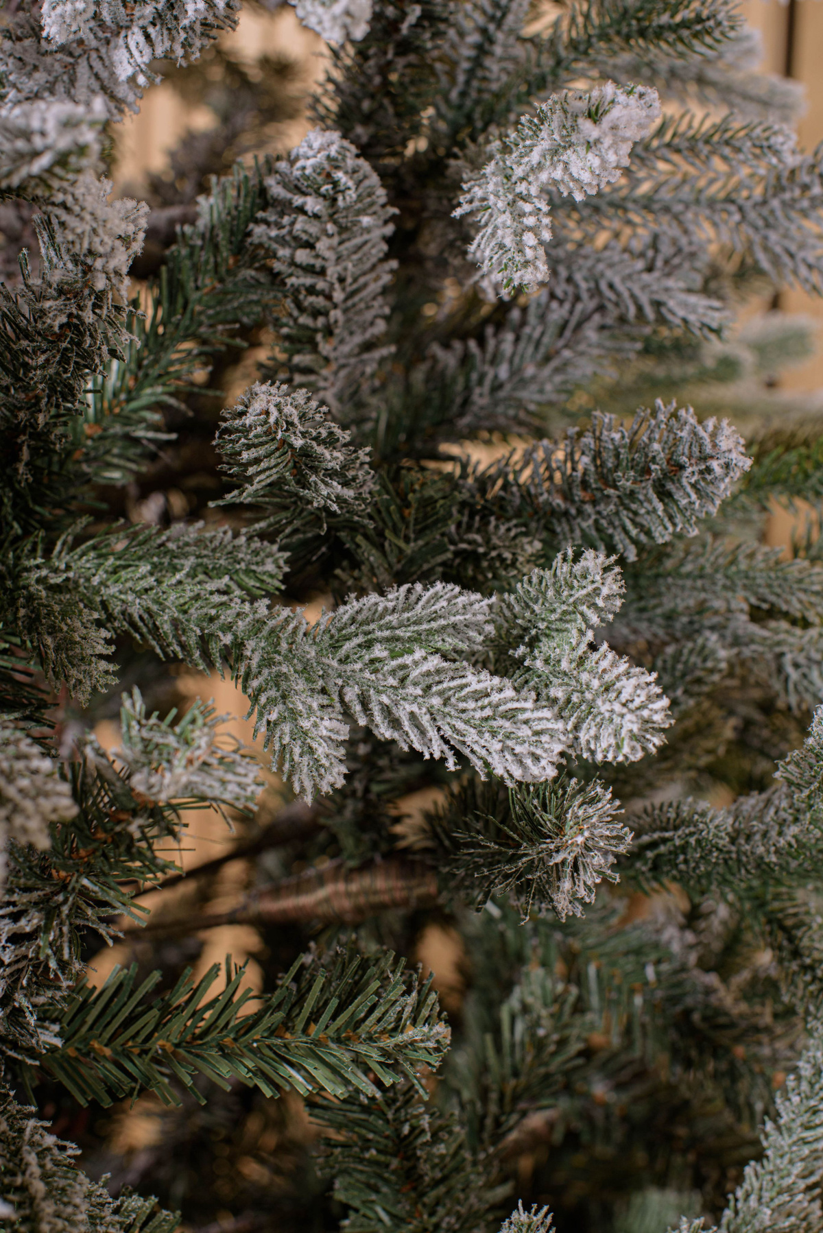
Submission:
[[[0,1221],[16,1233],[174,1233],[180,1217],[126,1190],[114,1200],[37,1110],[0,1090]],[[9,1222],[9,1223],[6,1223]]]

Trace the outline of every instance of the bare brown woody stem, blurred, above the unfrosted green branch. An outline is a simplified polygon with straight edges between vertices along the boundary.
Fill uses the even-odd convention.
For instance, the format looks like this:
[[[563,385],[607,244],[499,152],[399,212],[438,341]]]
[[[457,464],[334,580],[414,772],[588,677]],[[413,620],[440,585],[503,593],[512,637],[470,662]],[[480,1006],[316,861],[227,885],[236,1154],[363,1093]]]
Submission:
[[[328,925],[339,921],[343,925],[357,925],[391,909],[411,911],[416,907],[431,907],[437,899],[437,873],[421,862],[390,857],[359,869],[347,869],[343,861],[332,861],[322,869],[307,869],[270,887],[253,890],[232,911],[163,921],[134,932],[190,933],[215,925],[234,924]]]

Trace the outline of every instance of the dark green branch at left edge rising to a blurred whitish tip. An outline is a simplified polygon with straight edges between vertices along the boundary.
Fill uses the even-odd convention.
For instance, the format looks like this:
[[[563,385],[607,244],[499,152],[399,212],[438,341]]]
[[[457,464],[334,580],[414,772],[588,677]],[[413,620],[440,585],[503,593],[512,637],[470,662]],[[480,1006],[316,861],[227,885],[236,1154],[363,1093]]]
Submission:
[[[139,919],[128,883],[152,885],[175,870],[155,847],[179,838],[181,809],[212,800],[248,809],[259,790],[253,763],[218,746],[220,720],[201,703],[172,726],[147,715],[136,692],[121,718],[116,762],[89,737],[70,763],[72,797],[65,821],[52,820],[49,851],[23,842],[11,851],[0,905],[0,1041],[12,1057],[33,1062],[58,1039],[60,1000],[83,972],[78,933],[110,941],[117,914]],[[163,799],[164,789],[180,798]],[[53,789],[43,794],[41,808],[53,798]]]

